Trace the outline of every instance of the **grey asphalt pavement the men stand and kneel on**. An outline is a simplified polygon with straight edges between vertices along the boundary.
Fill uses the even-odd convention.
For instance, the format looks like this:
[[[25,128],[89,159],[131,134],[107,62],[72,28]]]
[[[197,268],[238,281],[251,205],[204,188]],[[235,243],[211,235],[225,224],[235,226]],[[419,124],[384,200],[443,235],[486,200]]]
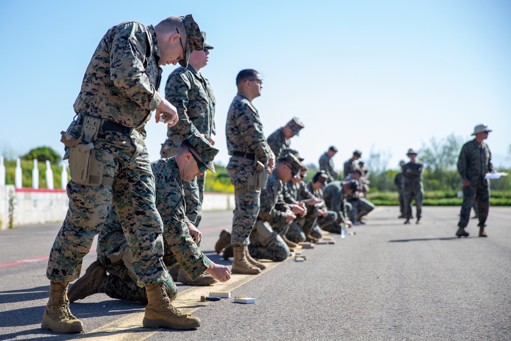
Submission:
[[[511,208],[492,207],[488,238],[457,238],[459,207],[425,207],[422,223],[403,225],[398,208],[378,207],[355,235],[267,263],[261,275],[234,275],[209,287],[178,284],[175,305],[202,320],[191,331],[142,328],[144,305],[104,293],[71,304],[82,334],[56,334],[40,323],[45,276],[58,224],[0,231],[0,340],[511,340]],[[202,251],[214,252],[232,213],[204,212]],[[414,222],[414,220],[413,220]],[[83,262],[82,273],[95,260]],[[200,302],[210,291],[255,298]]]

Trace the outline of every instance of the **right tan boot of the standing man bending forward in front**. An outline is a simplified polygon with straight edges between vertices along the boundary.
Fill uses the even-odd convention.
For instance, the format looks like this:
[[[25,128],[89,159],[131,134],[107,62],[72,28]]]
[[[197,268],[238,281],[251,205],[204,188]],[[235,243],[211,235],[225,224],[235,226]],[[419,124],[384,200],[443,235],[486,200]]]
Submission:
[[[147,301],[142,325],[146,328],[193,329],[200,327],[200,320],[183,314],[170,303],[165,282],[146,285]]]

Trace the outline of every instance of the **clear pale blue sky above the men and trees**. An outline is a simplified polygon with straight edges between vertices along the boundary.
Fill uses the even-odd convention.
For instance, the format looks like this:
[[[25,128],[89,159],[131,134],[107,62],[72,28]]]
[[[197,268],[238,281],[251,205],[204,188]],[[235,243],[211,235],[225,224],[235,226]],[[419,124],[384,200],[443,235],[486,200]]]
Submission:
[[[397,168],[408,148],[451,133],[469,140],[485,122],[496,165],[511,167],[511,2],[493,0],[4,1],[0,153],[44,145],[63,154],[59,133],[103,34],[125,20],[189,13],[215,47],[201,72],[217,99],[223,165],[235,78],[251,68],[264,79],[253,104],[265,133],[299,117],[306,128],[291,146],[306,163],[336,145],[336,168],[356,148],[364,159],[383,152]],[[173,69],[164,66],[163,84]],[[166,126],[152,118],[147,131],[156,160]]]

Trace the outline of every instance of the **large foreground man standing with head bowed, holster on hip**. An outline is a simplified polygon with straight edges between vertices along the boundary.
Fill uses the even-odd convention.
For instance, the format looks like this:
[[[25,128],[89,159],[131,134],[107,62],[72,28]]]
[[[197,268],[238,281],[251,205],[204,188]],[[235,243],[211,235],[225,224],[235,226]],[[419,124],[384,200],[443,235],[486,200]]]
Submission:
[[[203,38],[191,15],[166,20],[170,19],[180,25],[183,40],[188,36],[187,51],[202,49]],[[177,50],[177,41],[162,49],[158,47],[157,32],[181,39],[167,31],[164,21],[156,27],[125,21],[110,28],[87,66],[74,104],[76,120],[62,133],[62,141],[67,146],[64,158],[69,157],[69,147],[80,151],[91,142],[94,145],[91,152],[102,172],[91,174],[93,185],[77,183],[79,179],[76,174],[73,178],[72,173],[67,185],[69,208],[47,268],[51,285],[50,300],[41,324],[44,329],[61,333],[83,331],[81,321],[69,311],[67,283],[79,277],[82,259],[101,230],[110,204],[123,222],[138,284],[149,286],[153,291],[168,285],[170,277],[162,260],[162,222],[154,204],[154,177],[144,143],[145,132],[139,132],[143,131],[152,110],[156,109],[158,119],[161,112],[172,114],[175,110],[158,93],[162,72],[158,64],[171,60],[175,63],[180,59],[184,64],[188,61],[186,52],[181,53],[182,45]],[[166,59],[160,60],[161,56]],[[171,115],[167,121],[172,119]],[[94,133],[85,134],[82,139],[82,126],[83,132]],[[85,129],[92,126],[95,128]],[[75,161],[69,160],[69,163],[73,167]],[[88,180],[83,182],[89,183]],[[152,305],[146,307],[144,326],[158,325],[152,318],[158,316],[157,319],[166,320],[172,311],[169,305],[158,309],[153,309]],[[198,319],[192,322],[193,325],[197,323],[200,325]]]

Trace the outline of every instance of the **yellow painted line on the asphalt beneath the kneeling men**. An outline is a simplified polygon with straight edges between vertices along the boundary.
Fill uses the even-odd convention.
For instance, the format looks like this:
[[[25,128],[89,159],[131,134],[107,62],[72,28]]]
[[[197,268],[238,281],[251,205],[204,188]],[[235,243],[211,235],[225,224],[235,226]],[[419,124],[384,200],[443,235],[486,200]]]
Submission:
[[[288,257],[285,261],[291,259]],[[182,313],[191,314],[195,310],[204,307],[207,304],[213,303],[211,301],[201,302],[201,296],[207,296],[211,291],[230,291],[243,284],[258,278],[265,274],[266,271],[282,264],[283,262],[265,262],[266,269],[261,271],[260,275],[231,275],[230,280],[224,283],[216,283],[209,286],[194,286],[182,292],[179,292],[177,298],[172,304],[178,308]],[[240,293],[241,294],[241,293]],[[232,296],[232,294],[231,294]],[[228,300],[228,299],[227,299]],[[77,338],[84,340],[112,340],[112,341],[125,341],[137,340],[141,341],[149,336],[157,333],[162,329],[148,329],[142,327],[142,320],[144,319],[144,312],[136,312],[127,316],[121,317],[115,321],[105,324],[100,328],[96,328],[87,333],[81,334]]]

